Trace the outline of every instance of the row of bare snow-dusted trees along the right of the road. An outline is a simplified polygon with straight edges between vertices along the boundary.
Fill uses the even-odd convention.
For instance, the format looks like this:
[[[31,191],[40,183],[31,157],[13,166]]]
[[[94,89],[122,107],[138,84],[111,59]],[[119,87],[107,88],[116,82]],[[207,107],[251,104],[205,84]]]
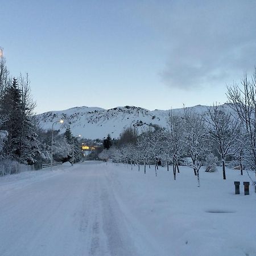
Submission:
[[[137,139],[119,147],[104,150],[100,158],[112,158],[117,163],[146,166],[154,164],[157,176],[158,163],[165,162],[167,170],[172,164],[174,179],[179,164],[191,167],[200,185],[199,173],[203,164],[217,158],[222,164],[226,179],[227,158],[239,162],[256,175],[256,72],[251,79],[243,77],[241,85],[228,88],[229,103],[214,104],[204,113],[184,108],[183,113],[168,114],[167,129],[152,129],[137,135]],[[127,133],[127,132],[126,132]],[[136,133],[135,133],[136,134]],[[210,159],[210,160],[209,160]]]

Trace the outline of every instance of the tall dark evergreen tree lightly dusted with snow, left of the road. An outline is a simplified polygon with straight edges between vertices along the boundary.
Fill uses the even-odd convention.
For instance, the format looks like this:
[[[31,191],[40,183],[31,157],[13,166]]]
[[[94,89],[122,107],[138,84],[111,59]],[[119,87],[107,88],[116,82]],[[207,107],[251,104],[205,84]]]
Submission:
[[[38,135],[35,132],[33,110],[35,103],[30,96],[28,76],[20,76],[19,82],[13,79],[0,99],[0,115],[3,123],[0,130],[8,133],[4,155],[22,163],[36,162]]]

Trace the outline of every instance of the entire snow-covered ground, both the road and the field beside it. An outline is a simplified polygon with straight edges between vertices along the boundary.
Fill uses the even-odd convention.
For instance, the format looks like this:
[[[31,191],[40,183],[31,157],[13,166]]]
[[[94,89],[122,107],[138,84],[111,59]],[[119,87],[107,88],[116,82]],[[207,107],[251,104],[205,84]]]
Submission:
[[[240,171],[85,162],[0,177],[0,255],[256,255],[256,194]],[[142,170],[142,168],[141,168]],[[171,169],[170,169],[171,170]]]

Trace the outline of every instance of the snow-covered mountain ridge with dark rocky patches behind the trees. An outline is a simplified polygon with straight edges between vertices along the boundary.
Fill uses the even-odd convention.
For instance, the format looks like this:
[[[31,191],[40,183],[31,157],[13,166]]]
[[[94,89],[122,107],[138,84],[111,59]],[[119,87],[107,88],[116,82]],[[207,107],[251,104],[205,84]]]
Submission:
[[[228,104],[224,104],[229,108]],[[197,105],[190,109],[197,113],[207,112],[209,106]],[[230,108],[229,108],[230,109]],[[147,110],[136,106],[119,106],[113,109],[93,108],[81,106],[62,111],[51,111],[37,115],[43,129],[52,129],[52,123],[60,119],[64,123],[55,123],[54,129],[64,133],[68,126],[73,135],[81,134],[88,139],[104,138],[108,134],[118,138],[124,129],[130,126],[137,127],[139,133],[149,126],[167,126],[167,117],[170,110]],[[183,108],[172,109],[174,114],[183,113]]]

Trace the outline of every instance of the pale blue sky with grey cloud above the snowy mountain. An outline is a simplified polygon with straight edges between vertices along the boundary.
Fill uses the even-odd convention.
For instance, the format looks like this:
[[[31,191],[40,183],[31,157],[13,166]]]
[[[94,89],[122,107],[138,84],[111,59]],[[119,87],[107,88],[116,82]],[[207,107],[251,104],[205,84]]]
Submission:
[[[256,65],[254,0],[0,3],[0,46],[37,113],[224,103]]]

